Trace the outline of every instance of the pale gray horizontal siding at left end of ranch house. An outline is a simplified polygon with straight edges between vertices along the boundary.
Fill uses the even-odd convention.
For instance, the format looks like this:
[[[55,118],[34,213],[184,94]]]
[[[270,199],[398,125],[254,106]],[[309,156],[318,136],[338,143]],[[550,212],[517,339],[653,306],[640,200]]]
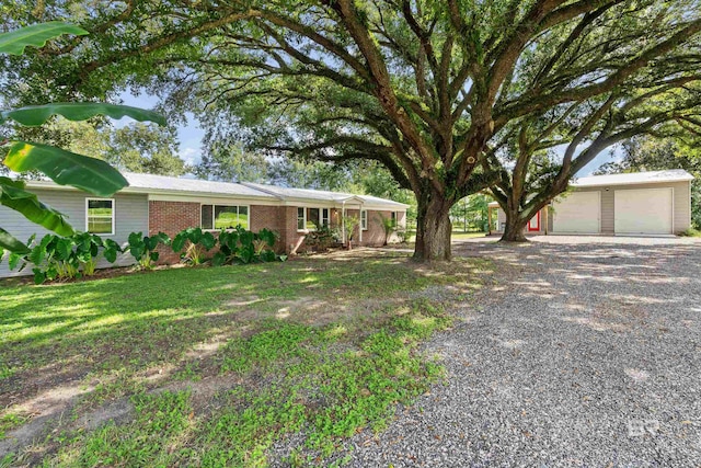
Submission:
[[[72,190],[32,190],[39,201],[51,206],[67,216],[68,222],[77,231],[85,230],[85,198],[94,198],[88,193],[77,192]],[[120,244],[127,242],[130,232],[142,231],[148,232],[148,214],[149,203],[146,194],[118,194],[113,196],[115,204],[115,235],[105,236],[105,238],[114,239]],[[48,233],[47,229],[37,226],[18,212],[4,206],[0,206],[0,227],[20,239],[26,241],[30,236],[36,233],[37,238],[42,238]],[[133,263],[131,256],[127,253],[122,255],[117,262],[119,265],[128,265]],[[106,262],[100,266],[108,266]],[[20,275],[32,274],[30,269],[19,273]],[[18,272],[11,272],[8,269],[7,255],[0,263],[0,277],[16,276]]]

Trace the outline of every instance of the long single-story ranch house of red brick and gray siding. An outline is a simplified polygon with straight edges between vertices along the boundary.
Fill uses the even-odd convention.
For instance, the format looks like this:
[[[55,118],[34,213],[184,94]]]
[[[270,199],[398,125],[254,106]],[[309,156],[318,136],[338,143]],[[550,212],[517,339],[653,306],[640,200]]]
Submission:
[[[28,181],[27,186],[42,202],[66,215],[76,230],[94,232],[120,244],[127,242],[130,232],[151,236],[162,231],[172,238],[189,227],[219,230],[241,225],[252,231],[267,228],[277,232],[277,249],[295,253],[306,248],[304,238],[317,226],[342,228],[344,217],[359,219],[353,243],[360,246],[383,243],[381,217],[395,219],[400,227],[405,226],[406,219],[407,205],[369,195],[151,174],[124,173],[124,176],[129,186],[110,198],[49,181]],[[48,232],[3,206],[0,226],[22,240]],[[170,252],[161,260],[172,263],[179,258]],[[130,263],[129,255],[118,261],[122,265]],[[0,263],[0,277],[12,275],[18,272],[9,271],[7,260]]]

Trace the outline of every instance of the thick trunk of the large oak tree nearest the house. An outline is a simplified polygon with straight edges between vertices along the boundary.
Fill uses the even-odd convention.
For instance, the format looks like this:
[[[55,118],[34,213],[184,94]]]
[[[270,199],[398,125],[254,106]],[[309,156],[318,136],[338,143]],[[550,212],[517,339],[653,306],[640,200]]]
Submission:
[[[417,198],[414,260],[417,262],[449,261],[452,232],[449,212],[452,203],[436,195]]]

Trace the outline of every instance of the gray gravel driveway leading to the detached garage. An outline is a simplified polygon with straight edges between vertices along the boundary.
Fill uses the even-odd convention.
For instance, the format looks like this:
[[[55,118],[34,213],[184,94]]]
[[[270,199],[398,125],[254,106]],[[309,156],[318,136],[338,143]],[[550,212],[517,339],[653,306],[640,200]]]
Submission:
[[[426,347],[447,368],[355,467],[701,466],[701,243],[487,240],[497,272]]]

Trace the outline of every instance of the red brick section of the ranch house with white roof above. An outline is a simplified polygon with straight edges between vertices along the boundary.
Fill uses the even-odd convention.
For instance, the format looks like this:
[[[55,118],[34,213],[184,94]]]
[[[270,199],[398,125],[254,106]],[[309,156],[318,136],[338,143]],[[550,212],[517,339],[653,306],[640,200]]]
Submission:
[[[309,221],[314,216],[323,216],[330,227],[340,231],[344,215],[363,219],[364,226],[359,222],[354,231],[354,246],[382,246],[382,217],[394,218],[400,227],[405,226],[406,219],[406,205],[365,195],[258,184],[223,184],[147,174],[127,174],[127,178],[130,190],[149,190],[149,236],[165,232],[173,237],[189,227],[212,229],[216,226],[207,225],[210,219],[206,212],[210,206],[215,225],[216,213],[220,207],[238,206],[240,212],[245,212],[245,216],[241,217],[243,227],[252,231],[271,229],[278,236],[276,250],[299,253],[309,248],[306,237],[313,229]],[[163,184],[170,184],[170,189],[165,190]],[[228,192],[214,192],[217,189],[228,189]],[[241,193],[231,193],[235,191]],[[302,210],[303,217],[300,216]],[[203,213],[207,219],[203,218]],[[345,243],[347,239],[343,241]],[[169,249],[162,249],[163,263],[179,260]]]

